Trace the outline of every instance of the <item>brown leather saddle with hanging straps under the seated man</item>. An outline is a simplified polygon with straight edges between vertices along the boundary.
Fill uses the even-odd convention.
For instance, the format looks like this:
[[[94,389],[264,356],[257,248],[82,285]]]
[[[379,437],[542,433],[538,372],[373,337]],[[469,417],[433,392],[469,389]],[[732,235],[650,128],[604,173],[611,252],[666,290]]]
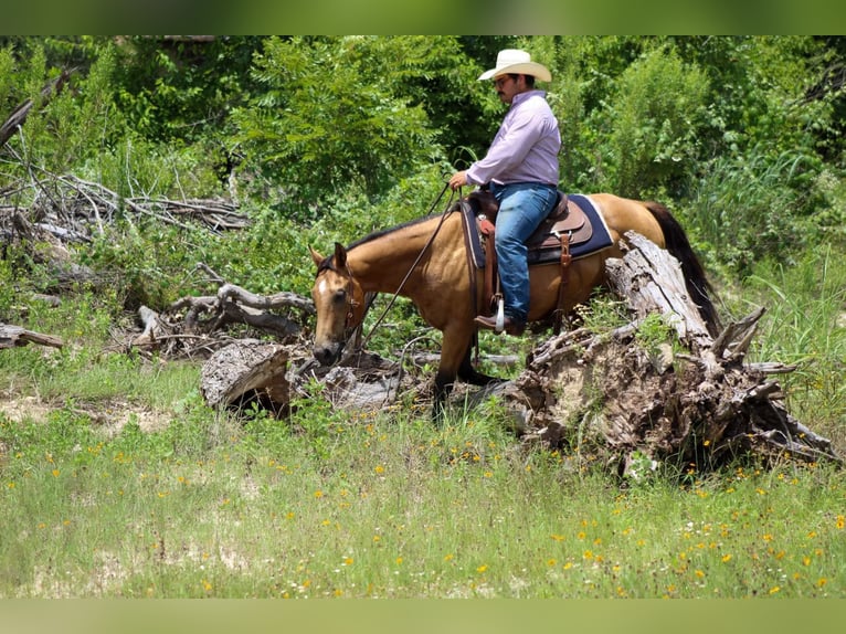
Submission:
[[[584,197],[580,197],[583,199]],[[484,253],[474,253],[472,262],[477,268],[485,270],[485,287],[483,299],[483,313],[493,314],[497,304],[501,300],[499,293],[499,274],[494,249],[496,233],[496,215],[499,202],[493,193],[477,190],[467,197],[465,205],[465,237],[467,239],[468,252],[474,246],[480,246]],[[474,236],[475,233],[475,236]],[[475,237],[475,241],[473,240]],[[593,223],[582,208],[563,191],[558,192],[558,202],[550,214],[540,223],[538,229],[526,241],[528,247],[529,265],[549,264],[558,262],[561,267],[561,283],[558,290],[558,302],[554,311],[554,332],[561,330],[563,318],[564,289],[568,283],[568,270],[573,258],[572,250],[579,245],[586,245],[593,237]],[[604,241],[603,241],[604,242]],[[472,288],[474,297],[475,275],[472,275]]]

